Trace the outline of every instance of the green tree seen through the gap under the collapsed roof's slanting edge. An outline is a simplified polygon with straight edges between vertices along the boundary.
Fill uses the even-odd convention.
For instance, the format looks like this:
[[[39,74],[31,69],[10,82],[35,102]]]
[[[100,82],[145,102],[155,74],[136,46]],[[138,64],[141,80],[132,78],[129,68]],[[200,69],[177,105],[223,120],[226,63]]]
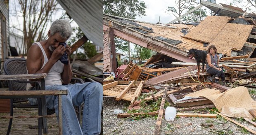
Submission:
[[[152,56],[151,50],[141,47],[139,45],[135,45],[134,47],[134,53],[133,58],[138,58],[139,59],[139,65],[141,62],[145,59],[148,59]]]

